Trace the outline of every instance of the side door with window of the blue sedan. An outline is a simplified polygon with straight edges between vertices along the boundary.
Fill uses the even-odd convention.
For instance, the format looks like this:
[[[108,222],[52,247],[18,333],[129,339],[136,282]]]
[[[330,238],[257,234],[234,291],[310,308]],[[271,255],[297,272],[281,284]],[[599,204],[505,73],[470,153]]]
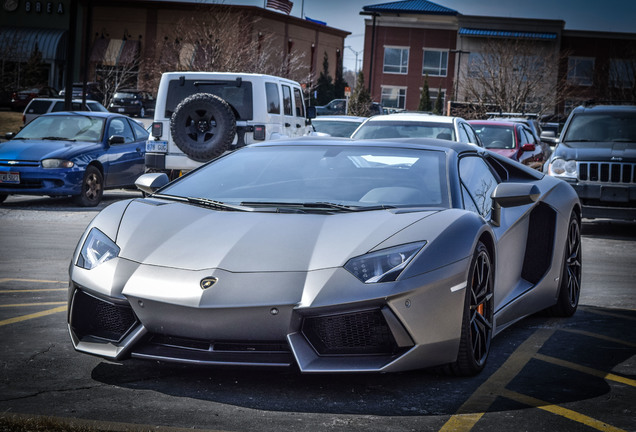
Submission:
[[[136,129],[141,128],[143,133]],[[107,150],[108,168],[104,169],[107,187],[130,186],[144,172],[145,146],[148,133],[139,124],[126,117],[110,119],[106,125],[106,139],[122,136],[123,143],[109,144]]]

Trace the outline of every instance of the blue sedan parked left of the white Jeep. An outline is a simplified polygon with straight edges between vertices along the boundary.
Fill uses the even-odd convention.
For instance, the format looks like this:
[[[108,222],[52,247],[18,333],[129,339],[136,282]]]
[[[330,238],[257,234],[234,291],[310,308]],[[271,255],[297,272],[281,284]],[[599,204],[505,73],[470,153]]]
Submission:
[[[71,195],[96,206],[105,189],[133,186],[144,172],[148,132],[101,112],[40,116],[0,143],[0,203],[8,195]]]

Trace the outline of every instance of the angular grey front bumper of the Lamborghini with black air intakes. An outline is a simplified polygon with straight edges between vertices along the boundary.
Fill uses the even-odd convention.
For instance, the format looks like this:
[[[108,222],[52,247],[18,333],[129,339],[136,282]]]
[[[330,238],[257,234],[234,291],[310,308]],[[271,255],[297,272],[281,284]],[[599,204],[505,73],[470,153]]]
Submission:
[[[72,266],[68,328],[76,350],[112,360],[423,368],[457,357],[465,291],[449,286],[465,283],[466,266],[365,285],[342,268],[186,272],[117,258],[90,271]],[[202,290],[199,281],[211,275],[219,282]]]

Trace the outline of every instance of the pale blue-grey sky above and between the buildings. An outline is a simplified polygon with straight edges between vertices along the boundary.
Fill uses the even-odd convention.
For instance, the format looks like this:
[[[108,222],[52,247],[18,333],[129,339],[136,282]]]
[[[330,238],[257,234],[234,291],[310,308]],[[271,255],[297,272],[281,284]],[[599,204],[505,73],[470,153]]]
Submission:
[[[363,6],[386,0],[292,0],[291,15],[324,21],[351,33],[345,39],[344,68],[362,65],[364,45]],[[567,30],[636,33],[636,0],[431,0],[463,15],[509,18],[541,18],[565,21]],[[263,7],[265,0],[224,0],[226,4]],[[348,47],[348,48],[347,48]]]

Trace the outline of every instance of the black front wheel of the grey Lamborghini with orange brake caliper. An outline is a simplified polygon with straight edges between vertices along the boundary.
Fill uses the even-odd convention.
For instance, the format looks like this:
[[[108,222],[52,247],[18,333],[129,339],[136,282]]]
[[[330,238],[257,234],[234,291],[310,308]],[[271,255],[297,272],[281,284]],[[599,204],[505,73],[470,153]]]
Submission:
[[[449,365],[454,375],[476,375],[486,365],[493,331],[493,287],[494,269],[490,252],[484,243],[479,242],[468,273],[459,352],[457,360]]]

